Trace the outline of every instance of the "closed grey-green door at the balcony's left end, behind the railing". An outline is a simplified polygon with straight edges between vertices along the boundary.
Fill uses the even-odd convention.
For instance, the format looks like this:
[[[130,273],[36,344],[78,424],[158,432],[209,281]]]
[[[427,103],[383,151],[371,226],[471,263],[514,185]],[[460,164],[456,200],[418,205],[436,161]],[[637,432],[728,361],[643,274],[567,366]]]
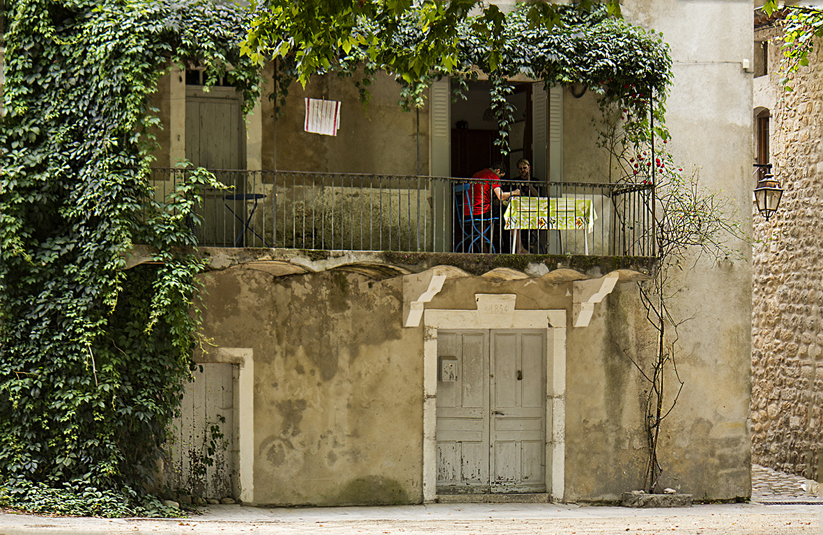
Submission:
[[[186,96],[186,159],[207,169],[242,169],[244,129],[239,95],[234,88],[213,87],[208,93],[189,88]],[[227,201],[227,195],[245,192],[241,173],[218,173],[217,178],[233,187],[230,190],[207,188],[203,191],[200,231],[203,245],[232,246],[243,224],[244,201]],[[242,246],[243,244],[239,244]]]

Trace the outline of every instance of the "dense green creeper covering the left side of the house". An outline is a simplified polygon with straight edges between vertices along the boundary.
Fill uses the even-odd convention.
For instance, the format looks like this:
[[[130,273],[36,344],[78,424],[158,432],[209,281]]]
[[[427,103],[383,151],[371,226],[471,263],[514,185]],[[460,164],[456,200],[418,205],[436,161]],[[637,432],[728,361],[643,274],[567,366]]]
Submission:
[[[151,484],[198,343],[203,265],[184,254],[195,242],[183,214],[213,178],[190,173],[154,197],[151,95],[171,66],[197,63],[249,110],[258,68],[239,56],[235,7],[29,0],[5,16],[0,481],[105,501]],[[125,271],[135,242],[155,262]]]

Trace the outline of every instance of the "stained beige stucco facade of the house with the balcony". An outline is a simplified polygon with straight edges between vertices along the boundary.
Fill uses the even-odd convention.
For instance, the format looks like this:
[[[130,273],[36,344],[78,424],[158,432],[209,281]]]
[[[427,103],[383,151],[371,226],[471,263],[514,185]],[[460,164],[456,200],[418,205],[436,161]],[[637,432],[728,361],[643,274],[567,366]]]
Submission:
[[[751,9],[623,3],[629,21],[662,31],[672,47],[672,154],[699,167],[704,186],[746,217]],[[265,93],[273,90],[267,69]],[[365,109],[351,81],[313,78],[305,90],[292,87],[282,118],[265,98],[238,117],[243,136],[219,164],[193,151],[200,141],[191,125],[234,104],[210,101],[186,81],[174,71],[161,82],[160,163],[202,156],[196,163],[249,170],[451,176],[453,123],[482,124],[481,109],[449,107],[445,83],[432,87],[420,113],[402,113],[388,76]],[[535,174],[602,182],[608,160],[589,126],[593,96],[537,84],[524,93],[545,106],[523,133]],[[222,88],[215,95],[234,98]],[[342,102],[337,136],[303,131],[305,97]],[[485,108],[481,96],[475,102]],[[273,187],[261,184],[263,213],[289,198]],[[643,486],[648,386],[632,359],[650,357],[653,331],[635,284],[653,274],[653,261],[569,255],[501,265],[307,248],[205,250],[204,334],[216,347],[198,359],[228,366],[234,388],[224,410],[232,413],[235,497],[256,505],[422,503],[474,470],[480,475],[461,481],[481,482],[475,491],[494,492],[498,482],[557,501],[616,500]],[[662,485],[698,500],[745,498],[751,265],[689,265],[671,305],[692,319],[679,331],[685,387],[663,427]]]

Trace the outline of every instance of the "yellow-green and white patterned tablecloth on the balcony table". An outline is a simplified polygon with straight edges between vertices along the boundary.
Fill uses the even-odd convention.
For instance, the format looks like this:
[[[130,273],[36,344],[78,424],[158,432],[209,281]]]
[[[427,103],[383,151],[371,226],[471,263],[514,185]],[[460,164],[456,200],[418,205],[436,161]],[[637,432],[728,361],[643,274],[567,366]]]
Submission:
[[[592,233],[597,213],[591,199],[566,197],[512,197],[503,215],[505,228],[551,228]]]

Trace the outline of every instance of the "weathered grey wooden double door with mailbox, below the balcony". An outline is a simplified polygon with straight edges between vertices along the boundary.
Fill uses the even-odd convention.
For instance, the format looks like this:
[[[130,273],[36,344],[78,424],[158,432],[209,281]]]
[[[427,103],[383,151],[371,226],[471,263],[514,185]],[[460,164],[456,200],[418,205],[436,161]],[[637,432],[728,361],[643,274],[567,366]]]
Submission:
[[[546,330],[439,330],[437,491],[546,492]]]

